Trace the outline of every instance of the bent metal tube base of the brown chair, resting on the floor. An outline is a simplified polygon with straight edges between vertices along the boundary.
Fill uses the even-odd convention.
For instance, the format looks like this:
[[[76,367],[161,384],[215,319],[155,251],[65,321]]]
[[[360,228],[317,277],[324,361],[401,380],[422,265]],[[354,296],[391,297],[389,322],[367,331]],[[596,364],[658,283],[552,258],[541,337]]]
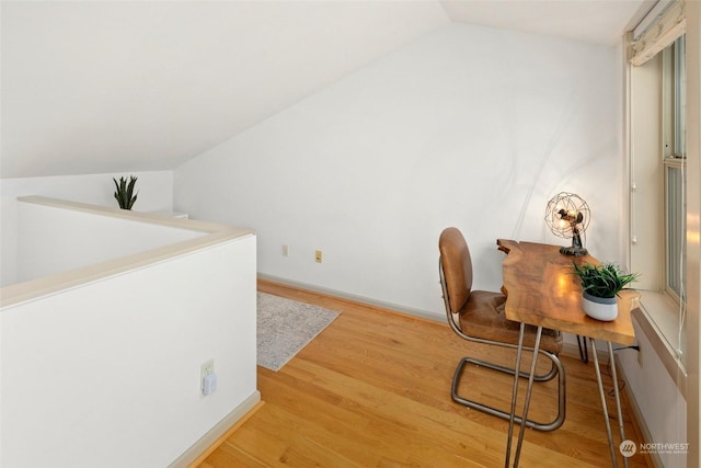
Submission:
[[[552,365],[550,370],[547,374],[537,375],[533,380],[540,381],[540,383],[548,381],[553,379],[554,376],[558,375],[558,415],[555,416],[555,419],[547,423],[526,420],[526,426],[535,429],[537,431],[549,432],[549,431],[556,430],[565,422],[565,369],[562,366],[562,363],[560,362],[560,358],[556,355],[549,353],[547,351],[539,351],[539,352],[545,357],[548,357]],[[460,403],[468,408],[472,408],[472,409],[485,412],[487,414],[492,414],[503,420],[508,420],[510,418],[509,412],[498,410],[496,408],[493,408],[487,404],[480,403],[473,400],[468,400],[467,398],[462,398],[458,395],[458,385],[460,384],[460,377],[462,376],[462,373],[464,372],[464,367],[468,364],[483,366],[483,367],[486,367],[493,370],[498,370],[509,375],[514,375],[516,370],[510,367],[499,366],[497,364],[489,363],[485,361],[474,359],[472,357],[463,357],[462,359],[460,359],[460,363],[458,363],[458,367],[456,367],[456,372],[452,376],[451,396],[455,402]],[[518,375],[521,378],[528,378],[528,374],[525,372],[519,372]],[[517,415],[514,418],[514,421],[517,424],[520,424],[521,418]]]

